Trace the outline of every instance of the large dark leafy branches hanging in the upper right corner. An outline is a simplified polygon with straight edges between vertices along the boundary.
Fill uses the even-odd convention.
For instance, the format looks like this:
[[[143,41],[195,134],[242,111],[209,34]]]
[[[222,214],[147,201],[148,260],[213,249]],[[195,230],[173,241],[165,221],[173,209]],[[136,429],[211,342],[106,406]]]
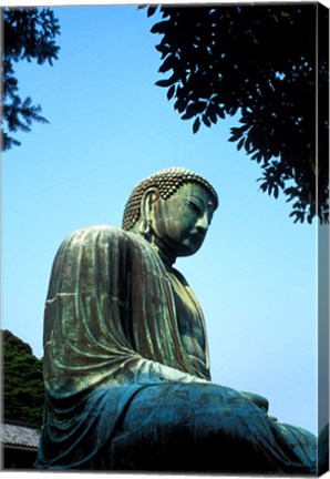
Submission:
[[[316,213],[328,222],[329,214],[328,13],[324,9],[319,14],[320,8],[161,7],[161,21],[151,30],[163,35],[156,49],[159,72],[167,75],[156,84],[167,89],[181,118],[194,120],[196,133],[202,125],[240,113],[229,141],[259,163],[261,191],[275,197],[282,191],[293,201],[295,222],[311,223]],[[147,14],[156,10],[148,7]]]

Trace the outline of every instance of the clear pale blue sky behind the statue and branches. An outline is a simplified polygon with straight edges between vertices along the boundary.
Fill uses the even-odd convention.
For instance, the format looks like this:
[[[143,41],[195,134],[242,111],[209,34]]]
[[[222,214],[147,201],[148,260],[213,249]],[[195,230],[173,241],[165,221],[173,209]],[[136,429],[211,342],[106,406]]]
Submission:
[[[161,78],[155,18],[134,6],[55,7],[54,65],[16,65],[49,125],[2,159],[2,328],[42,356],[43,306],[62,240],[120,226],[132,188],[167,166],[219,194],[202,249],[177,261],[205,313],[213,380],[266,396],[285,422],[317,430],[317,224],[259,191],[258,165],[228,142],[228,119],[194,135]]]

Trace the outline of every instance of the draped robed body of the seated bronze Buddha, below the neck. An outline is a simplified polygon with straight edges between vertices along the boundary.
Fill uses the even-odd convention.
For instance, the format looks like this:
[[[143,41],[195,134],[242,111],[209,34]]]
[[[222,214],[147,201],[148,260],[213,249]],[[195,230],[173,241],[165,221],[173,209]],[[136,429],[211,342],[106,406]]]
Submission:
[[[210,383],[198,303],[140,235],[92,226],[62,243],[43,343],[37,468],[314,473],[310,432]]]

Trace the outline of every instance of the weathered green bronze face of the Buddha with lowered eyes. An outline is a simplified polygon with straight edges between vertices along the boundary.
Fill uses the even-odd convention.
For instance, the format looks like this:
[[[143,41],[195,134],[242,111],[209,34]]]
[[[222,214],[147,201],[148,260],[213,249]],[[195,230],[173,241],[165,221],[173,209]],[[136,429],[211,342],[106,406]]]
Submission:
[[[192,255],[204,242],[214,210],[214,198],[204,186],[184,184],[169,198],[153,203],[153,233],[176,256]]]

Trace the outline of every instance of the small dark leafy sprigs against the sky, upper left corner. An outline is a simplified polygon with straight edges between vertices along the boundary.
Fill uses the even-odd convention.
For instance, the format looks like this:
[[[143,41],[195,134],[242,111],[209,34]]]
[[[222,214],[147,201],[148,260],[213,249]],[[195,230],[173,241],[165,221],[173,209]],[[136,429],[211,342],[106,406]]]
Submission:
[[[35,60],[38,64],[48,61],[51,65],[58,59],[60,48],[54,38],[60,33],[60,27],[52,10],[29,8],[4,8],[2,10],[3,54],[2,54],[2,149],[9,150],[21,143],[10,133],[19,130],[31,131],[33,121],[48,123],[41,116],[41,106],[34,105],[30,96],[22,100],[18,93],[18,79],[13,63]]]

